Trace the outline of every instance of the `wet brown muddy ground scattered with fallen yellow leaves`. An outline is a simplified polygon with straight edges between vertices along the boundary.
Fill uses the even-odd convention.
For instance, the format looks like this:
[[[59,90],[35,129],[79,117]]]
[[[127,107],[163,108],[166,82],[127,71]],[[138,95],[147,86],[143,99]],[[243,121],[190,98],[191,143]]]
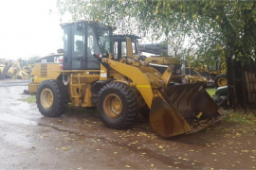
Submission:
[[[96,110],[47,118],[21,99],[27,80],[0,81],[0,169],[252,169],[255,127],[220,121],[162,138],[138,117],[129,130],[104,127]]]

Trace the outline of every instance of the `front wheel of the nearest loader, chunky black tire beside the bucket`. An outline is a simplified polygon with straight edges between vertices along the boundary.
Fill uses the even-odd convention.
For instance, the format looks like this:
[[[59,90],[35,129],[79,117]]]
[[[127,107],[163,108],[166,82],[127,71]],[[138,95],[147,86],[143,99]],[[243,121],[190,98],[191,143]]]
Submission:
[[[106,84],[99,93],[97,110],[106,127],[131,127],[139,110],[136,90],[121,82]]]

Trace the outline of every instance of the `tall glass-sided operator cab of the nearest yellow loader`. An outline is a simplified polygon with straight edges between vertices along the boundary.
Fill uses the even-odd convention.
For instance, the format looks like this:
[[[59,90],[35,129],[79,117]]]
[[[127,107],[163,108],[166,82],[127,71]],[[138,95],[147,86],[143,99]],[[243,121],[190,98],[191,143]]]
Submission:
[[[113,54],[112,26],[82,21],[61,25],[64,29],[64,70],[100,70],[94,55]]]

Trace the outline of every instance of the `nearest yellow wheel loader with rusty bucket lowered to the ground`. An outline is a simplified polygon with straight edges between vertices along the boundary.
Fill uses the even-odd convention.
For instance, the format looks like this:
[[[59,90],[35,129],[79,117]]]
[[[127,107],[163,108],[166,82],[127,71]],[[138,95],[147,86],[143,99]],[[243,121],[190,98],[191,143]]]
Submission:
[[[40,83],[36,103],[48,117],[74,107],[96,107],[105,126],[129,128],[139,110],[148,108],[157,134],[171,137],[210,126],[221,118],[218,106],[201,83],[169,86],[173,69],[164,74],[145,62],[113,57],[113,26],[82,21],[64,29],[62,76]],[[131,47],[131,46],[130,46]]]

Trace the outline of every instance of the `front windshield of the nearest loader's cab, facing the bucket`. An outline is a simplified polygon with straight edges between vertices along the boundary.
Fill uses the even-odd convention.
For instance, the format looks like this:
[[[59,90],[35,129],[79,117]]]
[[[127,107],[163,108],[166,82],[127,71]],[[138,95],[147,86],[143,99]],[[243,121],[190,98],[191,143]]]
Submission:
[[[102,54],[111,53],[111,30],[107,26],[95,25],[95,35]]]

